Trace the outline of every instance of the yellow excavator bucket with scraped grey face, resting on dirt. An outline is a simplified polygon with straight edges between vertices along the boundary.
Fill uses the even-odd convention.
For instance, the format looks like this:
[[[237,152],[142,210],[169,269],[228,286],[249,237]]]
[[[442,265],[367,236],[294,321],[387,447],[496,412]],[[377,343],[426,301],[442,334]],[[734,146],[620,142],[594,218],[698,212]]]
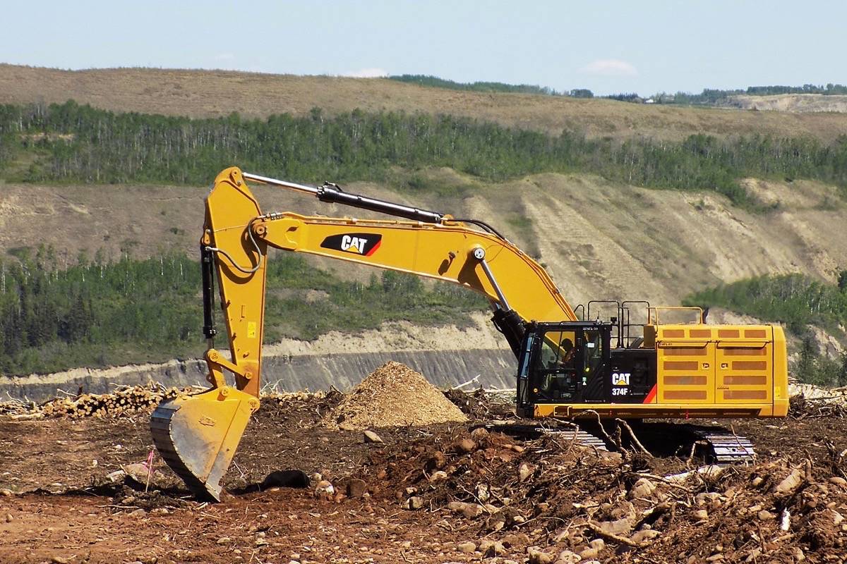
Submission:
[[[256,397],[230,386],[162,402],[150,418],[153,443],[197,497],[220,501],[220,480],[257,408]]]

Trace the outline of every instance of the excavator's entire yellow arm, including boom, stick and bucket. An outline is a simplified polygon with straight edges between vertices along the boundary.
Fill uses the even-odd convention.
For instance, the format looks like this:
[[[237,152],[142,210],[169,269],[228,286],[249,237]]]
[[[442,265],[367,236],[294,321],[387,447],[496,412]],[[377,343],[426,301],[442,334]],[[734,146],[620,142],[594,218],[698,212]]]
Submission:
[[[313,194],[328,203],[400,216],[363,220],[263,214],[246,180]],[[473,226],[473,227],[471,227]],[[519,353],[523,324],[576,320],[543,267],[482,222],[456,220],[384,200],[348,194],[335,185],[313,188],[241,172],[218,175],[206,199],[201,240],[208,381],[198,395],[165,402],[152,415],[153,440],[191,490],[218,500],[260,390],[265,268],[268,247],[408,272],[468,287],[489,299],[495,326]],[[213,281],[219,281],[229,357],[213,348]],[[224,370],[235,386],[227,385]]]

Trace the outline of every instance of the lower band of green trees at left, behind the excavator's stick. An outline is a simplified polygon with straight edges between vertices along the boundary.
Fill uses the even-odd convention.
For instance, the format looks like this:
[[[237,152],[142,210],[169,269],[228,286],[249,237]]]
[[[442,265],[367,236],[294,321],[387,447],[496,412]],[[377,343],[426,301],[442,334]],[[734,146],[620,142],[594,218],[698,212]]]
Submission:
[[[0,260],[0,374],[202,355],[196,260],[124,255],[107,262],[98,254],[60,266],[51,249],[15,255]],[[446,282],[430,288],[391,271],[366,284],[345,282],[293,255],[274,256],[267,272],[265,342],[370,329],[387,320],[462,325],[469,312],[486,307],[484,298]],[[225,335],[219,312],[216,318]]]

